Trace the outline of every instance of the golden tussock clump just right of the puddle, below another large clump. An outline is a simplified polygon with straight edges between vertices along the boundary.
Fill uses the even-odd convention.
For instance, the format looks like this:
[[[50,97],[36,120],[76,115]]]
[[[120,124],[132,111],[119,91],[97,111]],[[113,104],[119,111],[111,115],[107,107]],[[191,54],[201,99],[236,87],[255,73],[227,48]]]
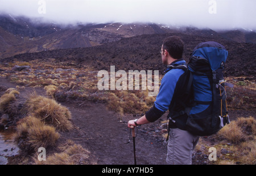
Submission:
[[[14,134],[14,141],[22,150],[53,147],[60,135],[55,128],[46,125],[40,119],[28,116],[19,123]]]

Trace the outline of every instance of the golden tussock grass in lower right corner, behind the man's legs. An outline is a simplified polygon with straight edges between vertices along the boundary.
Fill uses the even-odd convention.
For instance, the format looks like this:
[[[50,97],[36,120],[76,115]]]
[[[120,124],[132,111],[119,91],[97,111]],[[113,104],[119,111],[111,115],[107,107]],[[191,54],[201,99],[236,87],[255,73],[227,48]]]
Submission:
[[[227,156],[229,161],[221,161],[218,164],[256,164],[256,119],[253,117],[241,117],[223,127],[216,135],[220,141],[231,142],[227,149],[232,151],[232,156]]]

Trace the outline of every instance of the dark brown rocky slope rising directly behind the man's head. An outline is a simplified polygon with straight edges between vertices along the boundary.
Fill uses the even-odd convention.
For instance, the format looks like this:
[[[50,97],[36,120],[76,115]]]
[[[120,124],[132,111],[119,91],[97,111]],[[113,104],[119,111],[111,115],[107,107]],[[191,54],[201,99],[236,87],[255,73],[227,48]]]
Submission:
[[[1,62],[19,60],[29,62],[31,59],[55,59],[55,62],[75,63],[91,66],[100,70],[109,70],[114,65],[115,70],[159,70],[163,74],[165,67],[160,61],[159,50],[164,38],[177,35],[185,42],[184,59],[188,61],[191,51],[197,44],[205,41],[220,42],[229,51],[225,66],[225,76],[247,76],[255,79],[256,44],[238,43],[223,38],[211,36],[201,37],[181,33],[164,33],[141,35],[102,44],[90,48],[59,49],[38,53],[14,55]]]

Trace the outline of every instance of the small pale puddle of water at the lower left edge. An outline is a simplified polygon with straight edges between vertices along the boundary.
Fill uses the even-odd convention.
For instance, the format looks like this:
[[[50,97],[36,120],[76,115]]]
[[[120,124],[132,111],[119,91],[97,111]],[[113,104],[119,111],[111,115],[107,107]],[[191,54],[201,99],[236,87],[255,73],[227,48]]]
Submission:
[[[19,152],[18,146],[16,146],[10,138],[6,138],[0,134],[0,165],[6,165],[10,156],[15,156]]]

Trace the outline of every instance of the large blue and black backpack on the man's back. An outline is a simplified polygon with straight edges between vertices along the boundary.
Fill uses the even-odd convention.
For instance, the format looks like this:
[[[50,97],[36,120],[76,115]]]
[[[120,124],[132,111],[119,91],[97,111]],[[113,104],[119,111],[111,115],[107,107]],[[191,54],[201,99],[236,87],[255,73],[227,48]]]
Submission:
[[[223,69],[228,51],[217,42],[202,42],[193,50],[188,63],[192,74],[193,98],[187,106],[186,130],[199,136],[209,136],[230,123],[226,104]]]

